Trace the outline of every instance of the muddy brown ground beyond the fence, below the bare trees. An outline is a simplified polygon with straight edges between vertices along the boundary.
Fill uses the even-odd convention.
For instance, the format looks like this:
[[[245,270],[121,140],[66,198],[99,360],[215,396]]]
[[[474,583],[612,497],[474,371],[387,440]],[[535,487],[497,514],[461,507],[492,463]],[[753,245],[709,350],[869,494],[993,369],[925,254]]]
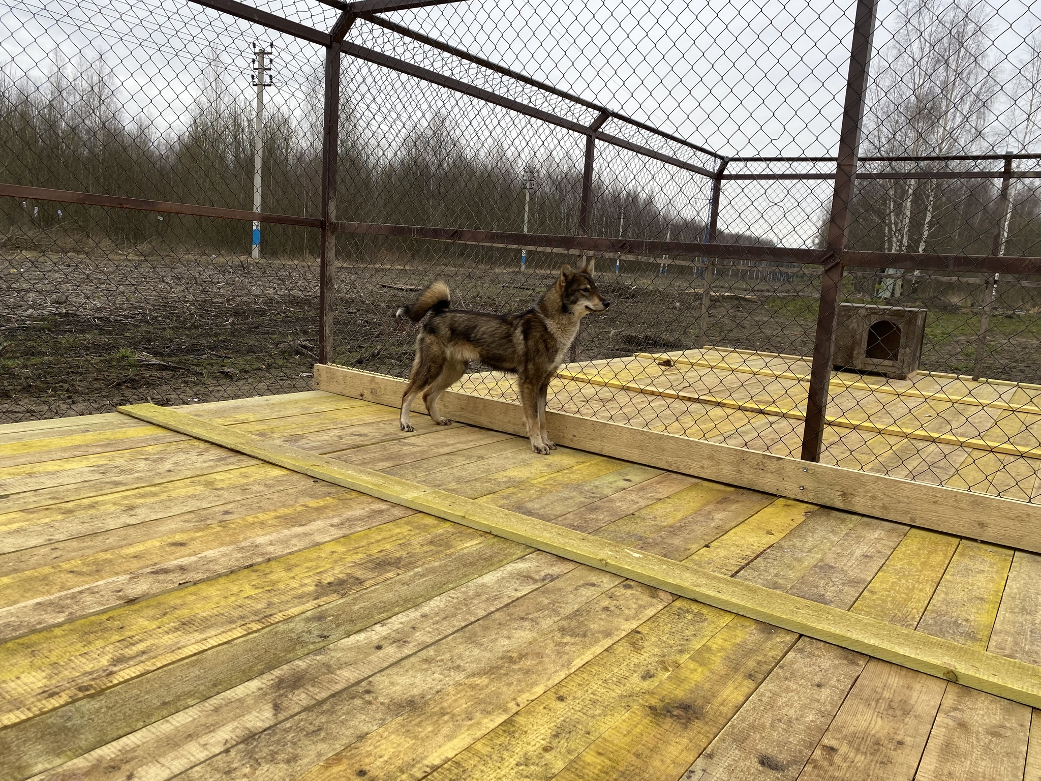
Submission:
[[[313,258],[31,250],[0,251],[0,422],[310,387],[318,352]],[[612,272],[609,267],[598,276],[612,306],[585,320],[580,359],[696,345],[702,280],[690,267],[666,274],[653,266],[640,274]],[[510,311],[534,304],[554,275],[549,262],[526,272],[451,262],[342,264],[334,359],[407,374],[415,326],[395,320],[393,312],[434,278],[449,282],[456,307]],[[812,353],[815,276],[783,288],[723,278],[713,289],[707,344]],[[1038,320],[992,318],[985,376],[1041,382]],[[970,371],[977,314],[938,303],[929,323],[922,369]]]

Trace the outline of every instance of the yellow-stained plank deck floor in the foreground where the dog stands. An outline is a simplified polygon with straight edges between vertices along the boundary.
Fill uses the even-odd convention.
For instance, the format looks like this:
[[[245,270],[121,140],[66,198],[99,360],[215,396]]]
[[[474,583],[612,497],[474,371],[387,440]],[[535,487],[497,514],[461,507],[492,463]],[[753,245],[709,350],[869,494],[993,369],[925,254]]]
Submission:
[[[329,393],[182,409],[1041,664],[1037,554]],[[3,780],[1041,781],[1029,706],[122,414],[0,427],[0,494]]]

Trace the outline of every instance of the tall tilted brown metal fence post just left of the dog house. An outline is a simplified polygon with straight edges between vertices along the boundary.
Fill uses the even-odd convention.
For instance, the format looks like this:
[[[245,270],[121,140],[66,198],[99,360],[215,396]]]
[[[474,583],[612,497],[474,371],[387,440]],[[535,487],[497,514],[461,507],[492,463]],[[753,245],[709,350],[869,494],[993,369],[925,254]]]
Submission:
[[[857,155],[860,150],[860,129],[864,116],[867,69],[874,37],[875,0],[858,0],[854,17],[853,42],[849,47],[849,75],[846,78],[842,128],[835,167],[835,191],[832,195],[831,219],[828,224],[828,248],[835,254],[824,267],[820,278],[820,302],[817,309],[817,331],[813,343],[813,366],[806,402],[806,423],[803,427],[802,458],[820,460],[823,442],[824,414],[828,410],[828,387],[832,378],[832,352],[835,347],[835,318],[842,289],[842,250],[845,249],[849,227],[849,201],[857,179]]]

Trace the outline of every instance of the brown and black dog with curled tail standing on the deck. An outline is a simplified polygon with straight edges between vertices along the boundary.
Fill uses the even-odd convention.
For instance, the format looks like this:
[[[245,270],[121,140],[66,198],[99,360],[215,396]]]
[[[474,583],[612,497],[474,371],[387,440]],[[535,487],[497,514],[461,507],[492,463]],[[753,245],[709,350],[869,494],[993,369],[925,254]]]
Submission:
[[[575,341],[582,318],[610,306],[596,292],[588,267],[574,271],[564,266],[539,302],[515,314],[451,309],[451,301],[449,286],[438,280],[414,304],[398,310],[398,317],[414,323],[431,314],[415,339],[412,374],[401,400],[402,430],[414,430],[408,413],[421,393],[434,423],[452,423],[438,414],[437,397],[462,377],[467,361],[481,360],[516,374],[532,450],[549,453],[557,447],[545,431],[550,380]]]

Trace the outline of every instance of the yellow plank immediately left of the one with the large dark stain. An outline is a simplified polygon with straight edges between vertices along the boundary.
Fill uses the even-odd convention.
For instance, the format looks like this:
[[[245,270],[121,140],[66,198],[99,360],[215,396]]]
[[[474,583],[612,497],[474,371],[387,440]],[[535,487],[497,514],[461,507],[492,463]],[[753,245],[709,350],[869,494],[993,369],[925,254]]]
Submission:
[[[732,615],[679,599],[460,752],[430,781],[553,778]]]

